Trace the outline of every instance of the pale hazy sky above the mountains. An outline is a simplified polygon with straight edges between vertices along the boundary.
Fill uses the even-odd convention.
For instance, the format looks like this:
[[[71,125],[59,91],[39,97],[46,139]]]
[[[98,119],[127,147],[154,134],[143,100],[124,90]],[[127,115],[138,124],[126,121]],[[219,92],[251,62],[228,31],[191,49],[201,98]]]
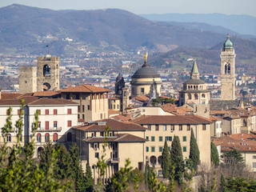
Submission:
[[[53,10],[118,8],[134,14],[249,14],[256,17],[256,0],[0,0],[0,7],[18,3]]]

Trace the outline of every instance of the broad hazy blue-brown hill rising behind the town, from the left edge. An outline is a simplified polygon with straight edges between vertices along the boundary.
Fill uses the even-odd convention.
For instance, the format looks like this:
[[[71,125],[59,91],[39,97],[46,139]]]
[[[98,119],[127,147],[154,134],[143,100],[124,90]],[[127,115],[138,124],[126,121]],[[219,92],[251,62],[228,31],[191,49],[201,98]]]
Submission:
[[[50,45],[54,54],[66,56],[82,46],[129,51],[146,46],[157,52],[161,46],[210,48],[226,36],[153,22],[126,10],[47,10],[18,4],[0,9],[0,29],[1,53],[42,54]]]

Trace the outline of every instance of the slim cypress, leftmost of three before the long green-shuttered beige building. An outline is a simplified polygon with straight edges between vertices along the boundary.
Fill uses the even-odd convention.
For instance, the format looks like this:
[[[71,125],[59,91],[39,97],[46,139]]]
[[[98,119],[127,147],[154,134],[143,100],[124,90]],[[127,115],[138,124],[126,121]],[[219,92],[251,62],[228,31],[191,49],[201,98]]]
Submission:
[[[170,176],[170,153],[168,150],[167,141],[165,141],[165,145],[162,150],[162,175],[163,178],[169,178]]]

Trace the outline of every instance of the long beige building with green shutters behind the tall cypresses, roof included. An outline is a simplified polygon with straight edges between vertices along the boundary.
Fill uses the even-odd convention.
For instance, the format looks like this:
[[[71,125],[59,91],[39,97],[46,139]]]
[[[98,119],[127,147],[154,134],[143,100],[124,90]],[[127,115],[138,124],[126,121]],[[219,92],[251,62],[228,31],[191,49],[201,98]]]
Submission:
[[[210,166],[210,123],[211,121],[196,115],[148,115],[134,119],[147,128],[145,135],[145,159],[146,163],[154,166],[158,175],[162,174],[162,150],[165,139],[169,150],[174,135],[178,136],[182,145],[183,159],[189,158],[190,134],[194,130],[194,137],[198,142],[201,164]]]

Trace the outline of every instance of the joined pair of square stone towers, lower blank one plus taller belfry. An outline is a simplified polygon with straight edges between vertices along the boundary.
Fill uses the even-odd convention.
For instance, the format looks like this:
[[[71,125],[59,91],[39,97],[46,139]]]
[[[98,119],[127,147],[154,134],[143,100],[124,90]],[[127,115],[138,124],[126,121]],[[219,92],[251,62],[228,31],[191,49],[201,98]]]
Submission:
[[[34,93],[44,90],[59,90],[59,58],[38,57],[38,66],[20,66],[19,92]]]

